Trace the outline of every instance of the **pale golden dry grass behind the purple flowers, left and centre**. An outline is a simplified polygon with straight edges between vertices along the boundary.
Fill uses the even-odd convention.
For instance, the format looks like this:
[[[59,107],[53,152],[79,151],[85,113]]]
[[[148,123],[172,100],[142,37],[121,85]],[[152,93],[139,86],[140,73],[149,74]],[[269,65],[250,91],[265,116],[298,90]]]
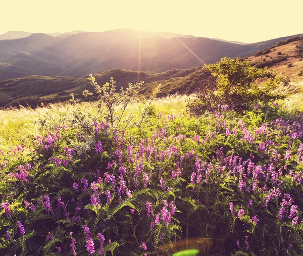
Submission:
[[[172,95],[161,99],[156,99],[153,105],[157,112],[164,115],[183,113],[186,109],[186,101],[189,99],[186,95]],[[134,103],[127,108],[125,116],[139,116],[139,103]],[[97,113],[96,103],[83,102],[77,107],[92,116]],[[75,106],[71,104],[49,104],[47,107],[37,109],[20,108],[12,110],[0,110],[0,149],[9,149],[15,145],[31,144],[37,135],[43,133],[43,127],[39,120],[48,117],[54,120],[61,114],[71,111]]]

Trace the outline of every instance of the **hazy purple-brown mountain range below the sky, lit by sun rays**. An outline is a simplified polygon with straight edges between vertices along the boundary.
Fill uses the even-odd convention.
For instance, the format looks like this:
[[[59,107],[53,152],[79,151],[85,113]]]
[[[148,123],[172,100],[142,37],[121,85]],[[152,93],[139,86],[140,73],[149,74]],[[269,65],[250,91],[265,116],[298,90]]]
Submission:
[[[38,33],[0,41],[0,80],[26,75],[79,78],[115,68],[156,73],[190,69],[215,63],[222,57],[251,56],[287,38],[289,36],[241,45],[204,37],[131,29],[85,32],[67,37]],[[28,57],[16,60],[15,56],[20,53]],[[31,65],[34,57],[39,58],[39,63]],[[30,65],[32,67],[28,69]]]

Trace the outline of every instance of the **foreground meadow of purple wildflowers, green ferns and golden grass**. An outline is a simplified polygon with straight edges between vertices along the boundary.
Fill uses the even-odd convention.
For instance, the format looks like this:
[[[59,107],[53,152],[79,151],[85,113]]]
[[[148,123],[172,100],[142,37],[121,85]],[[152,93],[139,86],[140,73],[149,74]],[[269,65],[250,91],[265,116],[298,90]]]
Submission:
[[[192,97],[0,111],[0,253],[301,255],[302,109]]]

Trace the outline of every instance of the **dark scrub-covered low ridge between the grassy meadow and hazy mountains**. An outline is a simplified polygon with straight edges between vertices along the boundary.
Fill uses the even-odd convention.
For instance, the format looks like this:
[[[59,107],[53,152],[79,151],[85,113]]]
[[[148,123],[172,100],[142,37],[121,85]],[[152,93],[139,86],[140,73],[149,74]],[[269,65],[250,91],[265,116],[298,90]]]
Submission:
[[[138,79],[144,81],[139,93],[145,96],[150,95],[159,84],[162,84],[157,96],[165,96],[176,92],[181,94],[193,92],[200,73],[200,68],[175,69],[163,73],[114,69],[93,75],[99,85],[114,77],[117,89],[125,87],[128,82],[136,83]],[[81,78],[27,76],[0,81],[0,107],[19,105],[35,107],[40,103],[70,99],[71,93],[74,93],[76,98],[82,98],[84,89],[93,91],[87,78],[88,76]]]

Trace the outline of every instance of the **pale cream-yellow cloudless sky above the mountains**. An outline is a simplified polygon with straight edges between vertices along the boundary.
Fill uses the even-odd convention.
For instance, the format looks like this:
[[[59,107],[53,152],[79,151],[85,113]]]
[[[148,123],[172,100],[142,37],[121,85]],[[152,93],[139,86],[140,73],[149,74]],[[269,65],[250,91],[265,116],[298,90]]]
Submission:
[[[0,6],[0,34],[133,28],[257,42],[303,33],[302,0],[0,0]]]

